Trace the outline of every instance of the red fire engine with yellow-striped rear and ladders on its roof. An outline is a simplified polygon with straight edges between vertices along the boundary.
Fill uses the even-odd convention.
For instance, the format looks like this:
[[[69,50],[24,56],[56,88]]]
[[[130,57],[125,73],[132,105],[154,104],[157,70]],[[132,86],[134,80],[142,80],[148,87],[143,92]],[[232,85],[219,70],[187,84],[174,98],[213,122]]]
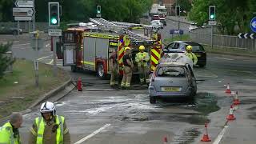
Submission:
[[[131,47],[134,74],[138,72],[134,61],[138,47],[143,45],[150,54],[150,71],[154,71],[161,57],[161,35],[146,26],[126,22],[108,22],[103,18],[90,18],[90,24],[70,27],[62,34],[63,66],[71,70],[93,70],[98,77],[110,74],[109,59],[112,52],[118,54],[118,72],[122,74],[122,57],[126,46]],[[140,31],[144,33],[139,33]],[[145,36],[150,34],[150,37]]]

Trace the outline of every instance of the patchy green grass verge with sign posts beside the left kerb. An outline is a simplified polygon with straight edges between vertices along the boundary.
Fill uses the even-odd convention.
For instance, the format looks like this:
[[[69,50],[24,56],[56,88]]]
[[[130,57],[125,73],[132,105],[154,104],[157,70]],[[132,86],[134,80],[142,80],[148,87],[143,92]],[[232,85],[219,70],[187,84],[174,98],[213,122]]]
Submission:
[[[13,73],[0,79],[0,118],[13,111],[26,110],[42,94],[54,90],[70,76],[58,70],[58,77],[52,73],[52,66],[39,63],[39,86],[35,86],[34,63],[22,59],[16,60]]]

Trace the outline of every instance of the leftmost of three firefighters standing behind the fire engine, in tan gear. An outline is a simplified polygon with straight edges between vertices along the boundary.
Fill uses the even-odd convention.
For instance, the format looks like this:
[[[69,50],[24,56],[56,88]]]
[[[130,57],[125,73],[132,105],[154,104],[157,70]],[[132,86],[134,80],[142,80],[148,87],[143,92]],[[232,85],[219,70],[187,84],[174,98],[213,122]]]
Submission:
[[[110,86],[118,86],[118,53],[117,50],[113,50],[110,56]]]

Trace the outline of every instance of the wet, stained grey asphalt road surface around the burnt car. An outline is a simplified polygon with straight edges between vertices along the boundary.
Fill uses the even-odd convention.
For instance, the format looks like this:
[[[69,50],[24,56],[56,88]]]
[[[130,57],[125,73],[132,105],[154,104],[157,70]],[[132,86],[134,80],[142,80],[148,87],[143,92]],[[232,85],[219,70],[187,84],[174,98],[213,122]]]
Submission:
[[[16,57],[34,58],[27,43],[25,40],[15,42],[13,51]],[[49,41],[44,46],[39,61],[51,65]],[[150,105],[145,87],[141,90],[112,90],[108,80],[102,81],[86,72],[71,73],[70,68],[65,68],[74,79],[82,76],[86,90],[73,90],[55,102],[57,113],[66,117],[72,143],[160,144],[164,137],[168,143],[200,143],[204,123],[208,121],[212,142],[219,135],[221,143],[254,143],[255,60],[208,54],[206,68],[194,69],[198,79],[198,94],[194,102],[170,99],[155,105]],[[58,65],[61,64],[59,60]],[[234,112],[237,119],[228,122],[228,129],[223,130],[226,133],[220,134],[232,102],[232,97],[224,93],[227,83],[230,83],[231,90],[238,90],[242,104]],[[37,116],[38,107],[24,115],[20,130],[23,142],[27,141],[29,128]],[[218,139],[215,142],[218,143]]]

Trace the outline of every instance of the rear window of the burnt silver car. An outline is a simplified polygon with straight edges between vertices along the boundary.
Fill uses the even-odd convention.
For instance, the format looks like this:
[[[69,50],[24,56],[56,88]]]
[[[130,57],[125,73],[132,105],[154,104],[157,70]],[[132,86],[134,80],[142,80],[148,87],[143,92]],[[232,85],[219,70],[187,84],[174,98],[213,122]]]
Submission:
[[[167,78],[185,78],[186,70],[184,67],[161,66],[158,68],[156,76]]]

